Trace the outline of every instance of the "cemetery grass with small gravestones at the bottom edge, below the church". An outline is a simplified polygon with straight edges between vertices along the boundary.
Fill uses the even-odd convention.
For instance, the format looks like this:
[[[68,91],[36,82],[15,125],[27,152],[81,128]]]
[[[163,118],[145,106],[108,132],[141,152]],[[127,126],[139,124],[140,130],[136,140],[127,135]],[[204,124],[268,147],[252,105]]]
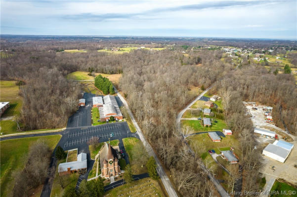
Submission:
[[[117,187],[106,193],[105,197],[164,197],[158,181],[152,178],[144,178],[133,181],[129,185]]]

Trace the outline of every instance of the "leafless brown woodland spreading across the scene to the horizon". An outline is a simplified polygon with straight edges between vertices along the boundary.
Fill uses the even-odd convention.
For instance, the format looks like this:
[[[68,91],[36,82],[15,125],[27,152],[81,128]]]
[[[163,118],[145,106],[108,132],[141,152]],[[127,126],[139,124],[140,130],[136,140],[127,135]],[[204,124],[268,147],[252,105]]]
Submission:
[[[11,55],[1,59],[0,73],[1,80],[23,80],[26,84],[20,86],[20,95],[24,99],[21,111],[24,129],[62,127],[66,124],[68,117],[77,109],[81,93],[78,83],[66,79],[68,73],[88,71],[89,67],[95,72],[122,73],[119,88],[145,136],[173,175],[173,183],[181,196],[214,195],[214,186],[207,176],[205,165],[198,154],[193,157],[189,153],[175,124],[179,110],[197,96],[189,94],[190,90],[212,86],[210,91],[222,97],[224,118],[241,145],[240,157],[244,164],[242,190],[258,190],[261,166],[261,153],[253,148],[253,125],[246,117],[242,101],[253,100],[274,106],[277,126],[287,127],[291,133],[297,134],[297,92],[291,74],[275,75],[263,66],[250,65],[248,61],[240,68],[234,68],[231,62],[221,61],[220,50],[187,49],[188,56],[182,54],[185,50],[182,45],[198,47],[217,43],[217,40],[160,39],[155,40],[155,46],[168,45],[166,50],[134,50],[123,55],[108,55],[96,50],[127,43],[150,45],[152,40],[118,38],[111,43],[111,40],[103,38],[101,42],[94,42],[81,37],[75,41],[60,37],[52,38],[50,42],[38,38],[21,42],[24,39],[10,37],[1,44],[1,49]],[[263,40],[224,40],[220,45],[224,44],[275,46],[275,42]],[[282,44],[296,47],[286,41],[279,43]],[[87,53],[60,51],[73,48],[87,49]],[[100,87],[100,81],[106,85]],[[98,89],[112,93],[111,84],[104,77],[97,76],[95,85],[97,82]]]

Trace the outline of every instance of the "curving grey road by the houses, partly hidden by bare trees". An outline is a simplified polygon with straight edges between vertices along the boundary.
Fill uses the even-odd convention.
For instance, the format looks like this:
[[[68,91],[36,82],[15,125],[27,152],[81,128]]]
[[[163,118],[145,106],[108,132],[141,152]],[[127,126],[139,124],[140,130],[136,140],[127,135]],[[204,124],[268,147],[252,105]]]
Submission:
[[[181,121],[181,117],[182,115],[186,112],[186,110],[188,110],[190,108],[190,106],[192,106],[197,100],[199,100],[201,97],[203,97],[203,95],[205,93],[207,93],[210,89],[212,88],[209,87],[208,89],[206,89],[203,93],[201,93],[196,99],[194,99],[192,102],[190,102],[183,110],[181,110],[177,117],[176,117],[176,129],[178,131],[180,131],[180,121]],[[188,145],[188,143],[185,141],[185,144]],[[194,154],[193,150],[191,149],[191,147],[188,145],[189,151],[190,153]],[[222,197],[230,197],[227,192],[224,190],[224,188],[221,186],[221,184],[218,182],[218,180],[216,178],[213,177],[213,175],[207,171],[208,173],[208,177],[210,178],[210,180],[212,181],[213,185],[215,186],[216,190],[218,191],[218,193],[222,196]]]

